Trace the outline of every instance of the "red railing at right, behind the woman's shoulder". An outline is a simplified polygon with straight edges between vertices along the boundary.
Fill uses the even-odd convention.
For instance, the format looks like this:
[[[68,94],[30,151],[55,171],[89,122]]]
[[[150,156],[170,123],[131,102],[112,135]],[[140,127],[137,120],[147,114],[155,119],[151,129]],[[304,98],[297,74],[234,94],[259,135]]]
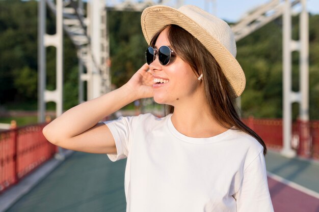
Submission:
[[[255,131],[271,149],[283,147],[282,119],[243,118],[243,122]],[[293,123],[291,147],[297,150],[299,156],[319,159],[319,120]]]

